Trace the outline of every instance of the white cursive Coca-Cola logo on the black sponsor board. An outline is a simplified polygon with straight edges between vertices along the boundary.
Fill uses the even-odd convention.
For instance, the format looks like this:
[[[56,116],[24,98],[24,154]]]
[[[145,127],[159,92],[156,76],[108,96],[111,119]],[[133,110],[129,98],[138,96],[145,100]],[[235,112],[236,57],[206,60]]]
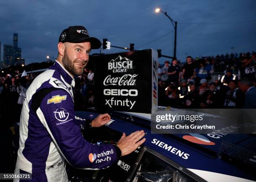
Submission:
[[[136,85],[136,80],[134,79],[137,77],[138,74],[125,74],[122,77],[111,77],[108,75],[105,77],[103,84],[107,85],[119,85],[119,86],[134,86]]]

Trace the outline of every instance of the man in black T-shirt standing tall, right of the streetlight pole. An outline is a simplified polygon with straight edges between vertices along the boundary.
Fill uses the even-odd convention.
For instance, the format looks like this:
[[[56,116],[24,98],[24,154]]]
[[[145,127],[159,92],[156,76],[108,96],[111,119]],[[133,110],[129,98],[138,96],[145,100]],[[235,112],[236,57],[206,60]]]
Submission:
[[[192,62],[192,57],[187,57],[187,62],[184,64],[182,69],[182,79],[189,80],[195,77],[195,64]]]

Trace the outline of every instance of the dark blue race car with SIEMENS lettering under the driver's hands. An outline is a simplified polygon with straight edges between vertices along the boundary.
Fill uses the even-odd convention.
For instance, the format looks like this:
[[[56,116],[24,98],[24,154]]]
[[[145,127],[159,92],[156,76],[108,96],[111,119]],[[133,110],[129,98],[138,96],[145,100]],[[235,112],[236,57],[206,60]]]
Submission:
[[[93,119],[99,114],[94,109],[76,112],[77,117],[84,119]],[[70,182],[256,181],[256,135],[223,132],[211,138],[193,133],[151,134],[150,114],[115,111],[109,114],[111,120],[105,126],[84,128],[87,141],[115,145],[123,132],[129,135],[144,130],[146,142],[104,170],[78,170],[68,166]],[[18,126],[15,124],[11,129],[17,131]],[[14,136],[15,153],[18,132]]]

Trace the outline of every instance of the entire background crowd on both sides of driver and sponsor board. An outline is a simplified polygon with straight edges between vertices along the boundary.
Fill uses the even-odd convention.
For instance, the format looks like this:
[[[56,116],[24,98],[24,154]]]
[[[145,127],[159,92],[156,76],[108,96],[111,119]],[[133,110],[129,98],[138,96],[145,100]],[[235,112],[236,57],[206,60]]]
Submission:
[[[177,60],[166,61],[158,70],[158,104],[177,108],[256,108],[255,62],[254,52],[200,59],[188,56],[184,65]],[[222,79],[211,79],[216,70],[224,72]],[[234,71],[239,74],[234,75]],[[9,124],[19,121],[26,90],[35,77],[0,77],[1,120]],[[84,69],[75,82],[75,110],[94,107],[93,71]]]

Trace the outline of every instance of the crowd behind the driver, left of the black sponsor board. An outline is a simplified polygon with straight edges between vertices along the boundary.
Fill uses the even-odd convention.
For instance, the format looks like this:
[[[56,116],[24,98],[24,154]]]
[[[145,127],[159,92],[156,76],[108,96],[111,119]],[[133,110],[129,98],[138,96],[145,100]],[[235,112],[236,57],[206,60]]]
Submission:
[[[35,74],[7,74],[0,77],[0,119],[8,120],[8,125],[19,122],[26,97],[26,90],[36,77]],[[94,73],[84,69],[83,75],[75,77],[75,110],[94,107]]]

